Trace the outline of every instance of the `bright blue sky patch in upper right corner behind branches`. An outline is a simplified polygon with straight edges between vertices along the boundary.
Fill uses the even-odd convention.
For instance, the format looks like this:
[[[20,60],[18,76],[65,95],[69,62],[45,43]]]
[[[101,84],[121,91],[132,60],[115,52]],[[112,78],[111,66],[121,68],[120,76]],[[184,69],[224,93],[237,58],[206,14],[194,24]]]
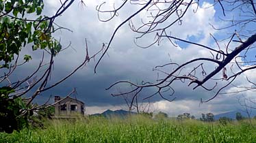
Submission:
[[[208,2],[208,3],[212,3],[212,0],[205,0],[205,1],[201,1],[199,3],[200,6],[203,5],[203,2]],[[238,1],[237,3],[235,3],[235,5],[240,5],[242,1]],[[222,6],[224,7],[225,10],[231,10],[232,7],[234,7],[234,5],[230,5],[230,3],[225,3],[223,1],[221,1]],[[238,33],[238,35],[240,35],[240,37],[238,37],[237,35],[235,35],[233,37],[233,40],[236,41],[240,41],[240,39],[242,39],[242,41],[244,42],[246,39],[248,39],[248,37],[251,37],[251,35],[255,34],[256,32],[256,25],[253,20],[251,20],[250,22],[241,22],[242,20],[248,20],[248,19],[252,19],[253,16],[255,17],[255,15],[252,15],[253,13],[249,13],[249,12],[245,12],[245,11],[250,11],[250,6],[246,7],[244,6],[244,12],[241,13],[240,9],[235,9],[232,10],[232,12],[223,12],[222,10],[222,6],[220,5],[220,3],[216,3],[214,5],[214,10],[216,10],[216,13],[214,15],[215,21],[217,23],[222,23],[223,25],[214,25],[214,27],[216,27],[217,30],[219,32],[214,33],[214,37],[216,37],[216,39],[218,39],[218,41],[221,41],[222,39],[227,39],[228,37],[231,38],[231,35],[233,35],[233,33],[235,33],[235,31]],[[238,25],[233,25],[235,22],[232,22],[231,20],[238,20],[237,22],[241,22]],[[240,20],[240,21],[239,21]],[[246,25],[244,25],[246,23]],[[233,26],[232,26],[233,25]],[[222,29],[225,28],[226,29]],[[239,39],[240,38],[240,39]],[[193,39],[192,37],[190,37],[189,39]],[[212,40],[212,42],[214,42]],[[227,40],[225,41],[226,45],[227,45]],[[234,50],[237,46],[240,46],[240,42],[232,42],[232,46],[233,47],[229,47],[229,49]],[[253,44],[249,50],[244,50],[240,53],[242,58],[241,60],[244,62],[248,62],[248,63],[242,63],[242,65],[254,65],[256,61],[256,48],[255,48],[256,44]],[[225,49],[225,48],[222,48]],[[229,51],[231,52],[231,51]],[[246,55],[246,57],[245,57]]]

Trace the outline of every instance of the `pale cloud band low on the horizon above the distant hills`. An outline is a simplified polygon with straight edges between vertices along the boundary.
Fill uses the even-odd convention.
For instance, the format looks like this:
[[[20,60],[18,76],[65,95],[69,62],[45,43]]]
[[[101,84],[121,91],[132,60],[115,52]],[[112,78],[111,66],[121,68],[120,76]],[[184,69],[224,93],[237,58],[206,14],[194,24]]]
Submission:
[[[225,102],[223,99],[229,100],[230,102]],[[141,103],[138,103],[139,105]],[[142,105],[142,104],[141,104]],[[147,104],[144,104],[147,105]],[[231,106],[232,105],[232,106]],[[200,118],[201,114],[206,114],[208,112],[212,112],[213,114],[221,114],[223,112],[229,112],[233,110],[240,109],[241,106],[238,104],[238,99],[233,97],[219,97],[216,100],[201,104],[199,100],[191,100],[184,99],[179,101],[156,101],[151,103],[149,112],[165,112],[168,116],[177,117],[179,114],[183,114],[185,112],[190,113],[191,115],[196,116],[196,118]],[[86,107],[86,114],[96,114],[102,113],[105,110],[127,110],[127,106],[125,104],[120,106],[88,106]],[[136,112],[133,110],[133,112]]]

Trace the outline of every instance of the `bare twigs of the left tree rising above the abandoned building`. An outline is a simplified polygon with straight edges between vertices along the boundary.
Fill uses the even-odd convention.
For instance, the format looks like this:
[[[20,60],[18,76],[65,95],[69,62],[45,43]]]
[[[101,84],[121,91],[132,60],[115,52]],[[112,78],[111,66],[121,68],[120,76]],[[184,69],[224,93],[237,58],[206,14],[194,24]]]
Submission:
[[[34,108],[29,108],[29,105],[31,104],[31,102],[38,96],[40,95],[42,92],[47,91],[49,89],[52,89],[53,87],[57,86],[58,84],[64,82],[64,80],[66,80],[67,78],[71,77],[73,74],[75,74],[75,72],[77,72],[78,69],[81,69],[81,67],[83,67],[84,65],[86,65],[90,59],[94,59],[94,57],[97,56],[97,54],[99,54],[103,49],[99,50],[98,52],[96,52],[95,54],[93,54],[92,56],[89,55],[88,53],[88,44],[87,44],[87,40],[86,40],[86,55],[84,57],[84,61],[78,65],[75,69],[73,69],[73,72],[71,72],[70,74],[66,75],[64,78],[62,78],[61,80],[51,84],[50,86],[47,86],[51,77],[51,72],[53,71],[53,61],[54,61],[54,52],[51,52],[50,55],[50,60],[49,63],[47,63],[47,68],[44,69],[44,72],[41,74],[41,76],[39,76],[39,78],[36,78],[36,76],[38,76],[38,72],[39,70],[42,68],[42,66],[45,66],[43,61],[44,61],[44,52],[42,54],[42,60],[40,61],[37,69],[35,70],[35,72],[31,73],[29,76],[27,76],[27,78],[23,79],[23,80],[18,80],[16,82],[10,83],[10,85],[12,85],[12,88],[16,91],[15,93],[13,93],[12,95],[9,95],[9,97],[12,99],[16,99],[18,97],[22,97],[23,95],[29,93],[29,92],[33,92],[34,89],[36,88],[36,86],[38,86],[36,88],[36,90],[34,91],[34,93],[29,96],[28,101],[26,102],[27,108],[25,110],[38,110],[41,109],[42,106],[44,106],[44,103],[40,106],[34,107]],[[17,65],[17,60],[16,60],[16,65]],[[10,69],[10,73],[12,74],[12,72],[14,71],[15,68]],[[5,75],[5,76],[11,76],[11,74],[9,75]],[[33,78],[34,80],[32,82],[29,81],[29,79]],[[4,80],[9,81],[8,77]],[[27,83],[27,85],[24,85],[25,83]],[[75,91],[72,91],[71,93],[74,93]],[[71,95],[68,94],[69,95]],[[48,106],[47,106],[48,107]]]

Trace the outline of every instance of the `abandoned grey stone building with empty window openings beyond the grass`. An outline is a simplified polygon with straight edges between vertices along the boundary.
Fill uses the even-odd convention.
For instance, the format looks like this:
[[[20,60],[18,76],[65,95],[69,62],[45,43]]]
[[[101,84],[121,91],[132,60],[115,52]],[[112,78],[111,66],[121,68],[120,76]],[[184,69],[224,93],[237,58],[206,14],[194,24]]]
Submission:
[[[62,99],[60,96],[55,96],[55,116],[71,116],[73,114],[84,115],[84,102],[66,97]]]

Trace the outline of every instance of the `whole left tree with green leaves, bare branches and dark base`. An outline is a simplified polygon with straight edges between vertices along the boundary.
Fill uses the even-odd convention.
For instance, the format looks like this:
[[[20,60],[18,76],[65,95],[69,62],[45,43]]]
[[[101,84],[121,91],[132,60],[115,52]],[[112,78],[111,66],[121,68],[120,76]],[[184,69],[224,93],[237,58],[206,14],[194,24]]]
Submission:
[[[0,131],[12,132],[27,125],[29,116],[34,110],[50,108],[49,99],[44,104],[31,104],[42,92],[52,89],[72,76],[78,69],[86,65],[89,57],[86,42],[84,61],[77,65],[70,74],[55,83],[49,84],[55,56],[61,52],[60,40],[53,37],[55,31],[66,29],[55,23],[55,19],[63,14],[74,0],[62,1],[52,16],[43,14],[42,0],[10,0],[0,1]],[[68,29],[67,29],[68,30]],[[16,77],[10,80],[17,67],[21,67],[32,59],[31,55],[21,57],[21,50],[31,46],[32,50],[42,51],[42,59],[34,72],[26,72],[25,78]],[[45,53],[47,56],[45,56]],[[23,58],[23,59],[21,59]],[[75,93],[75,89],[66,96]]]

